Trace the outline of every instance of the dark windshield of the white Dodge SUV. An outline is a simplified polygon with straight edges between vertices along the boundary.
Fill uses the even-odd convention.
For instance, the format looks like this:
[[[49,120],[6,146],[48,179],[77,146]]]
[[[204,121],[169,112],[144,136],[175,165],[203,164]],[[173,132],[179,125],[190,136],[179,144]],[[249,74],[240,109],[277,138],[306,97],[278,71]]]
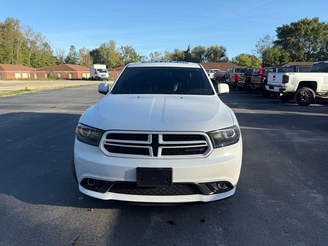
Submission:
[[[131,67],[117,79],[112,94],[214,95],[201,68]]]

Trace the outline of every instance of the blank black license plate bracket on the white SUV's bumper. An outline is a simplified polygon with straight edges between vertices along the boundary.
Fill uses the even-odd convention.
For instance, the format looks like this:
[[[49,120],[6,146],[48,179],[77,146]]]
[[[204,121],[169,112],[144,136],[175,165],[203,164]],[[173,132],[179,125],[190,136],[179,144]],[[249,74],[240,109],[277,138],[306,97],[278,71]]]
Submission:
[[[137,186],[172,186],[172,168],[137,168]]]

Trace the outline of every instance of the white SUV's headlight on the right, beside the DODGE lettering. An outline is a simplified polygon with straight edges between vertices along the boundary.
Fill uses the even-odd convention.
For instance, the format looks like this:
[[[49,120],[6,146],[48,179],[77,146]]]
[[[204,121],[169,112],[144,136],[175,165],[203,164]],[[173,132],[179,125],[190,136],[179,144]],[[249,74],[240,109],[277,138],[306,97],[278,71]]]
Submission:
[[[236,144],[240,137],[238,126],[208,132],[207,134],[211,138],[214,149]]]

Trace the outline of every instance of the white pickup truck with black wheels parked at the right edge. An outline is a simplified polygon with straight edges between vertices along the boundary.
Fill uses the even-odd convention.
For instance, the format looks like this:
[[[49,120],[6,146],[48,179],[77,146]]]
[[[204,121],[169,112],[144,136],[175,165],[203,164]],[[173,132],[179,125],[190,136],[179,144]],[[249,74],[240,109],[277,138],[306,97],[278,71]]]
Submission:
[[[279,93],[282,101],[308,106],[315,96],[328,96],[328,61],[313,63],[309,73],[269,73],[265,89]]]

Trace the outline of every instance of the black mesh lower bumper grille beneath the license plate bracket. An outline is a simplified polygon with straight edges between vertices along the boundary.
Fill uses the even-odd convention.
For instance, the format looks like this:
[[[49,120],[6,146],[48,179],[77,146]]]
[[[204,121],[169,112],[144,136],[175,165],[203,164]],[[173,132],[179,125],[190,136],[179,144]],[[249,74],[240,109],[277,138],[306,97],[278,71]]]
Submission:
[[[114,183],[109,192],[145,196],[181,196],[202,194],[193,184],[173,183],[169,187],[137,187],[136,183]]]

